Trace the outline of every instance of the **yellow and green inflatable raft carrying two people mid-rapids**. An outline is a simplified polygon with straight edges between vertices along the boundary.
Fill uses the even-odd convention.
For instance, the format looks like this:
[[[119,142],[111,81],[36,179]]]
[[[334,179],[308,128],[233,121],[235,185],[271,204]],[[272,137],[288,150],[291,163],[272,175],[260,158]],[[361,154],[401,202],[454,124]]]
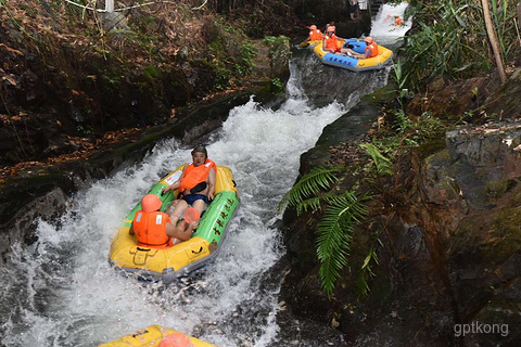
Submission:
[[[162,195],[163,188],[173,184],[180,177],[186,165],[166,175],[147,193],[156,194],[161,198],[162,211],[165,211],[177,197],[177,191]],[[130,235],[128,231],[134,216],[141,209],[141,203],[139,203],[127,215],[112,241],[110,262],[126,272],[138,272],[142,279],[171,282],[203,267],[217,255],[226,236],[228,222],[238,206],[239,197],[232,172],[226,166],[218,166],[215,197],[202,215],[199,227],[190,240],[163,249],[138,246],[136,236]]]

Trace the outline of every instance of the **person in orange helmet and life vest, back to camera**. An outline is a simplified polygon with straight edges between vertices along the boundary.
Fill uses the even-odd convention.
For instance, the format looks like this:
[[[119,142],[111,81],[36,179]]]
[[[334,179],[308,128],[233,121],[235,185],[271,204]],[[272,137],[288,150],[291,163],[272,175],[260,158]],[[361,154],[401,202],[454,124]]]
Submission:
[[[160,210],[161,200],[155,194],[147,194],[141,200],[141,209],[136,213],[129,233],[136,235],[139,246],[167,248],[175,240],[186,241],[192,235],[196,224],[190,223],[187,231],[181,231],[171,222],[170,217]]]

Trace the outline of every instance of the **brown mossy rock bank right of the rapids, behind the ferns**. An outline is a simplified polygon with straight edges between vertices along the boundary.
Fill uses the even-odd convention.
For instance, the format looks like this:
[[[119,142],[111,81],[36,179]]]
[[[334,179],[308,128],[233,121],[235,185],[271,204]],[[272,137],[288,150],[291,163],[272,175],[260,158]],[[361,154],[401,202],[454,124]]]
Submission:
[[[401,153],[394,175],[382,177],[369,216],[355,228],[350,264],[331,300],[318,280],[314,230],[320,216],[285,214],[292,266],[281,299],[292,313],[336,326],[352,346],[521,340],[520,72],[503,87],[494,78],[437,81],[409,104],[409,117],[430,110],[461,125]],[[365,98],[328,129],[353,129],[363,113],[376,120],[380,107]],[[302,156],[302,174],[333,162],[331,146],[353,146],[361,138],[328,129]],[[359,182],[367,160],[358,159],[347,160],[338,189]],[[372,264],[376,277],[363,296],[360,267],[376,236],[382,242],[379,265]]]

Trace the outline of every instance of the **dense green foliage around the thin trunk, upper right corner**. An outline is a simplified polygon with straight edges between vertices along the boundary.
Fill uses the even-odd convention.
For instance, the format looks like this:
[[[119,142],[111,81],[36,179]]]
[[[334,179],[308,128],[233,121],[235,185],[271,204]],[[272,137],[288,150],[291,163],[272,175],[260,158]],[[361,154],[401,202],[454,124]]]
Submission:
[[[491,1],[493,24],[507,62],[520,53],[517,3]],[[494,67],[481,1],[418,1],[414,15],[418,26],[401,51],[407,59],[404,69],[409,73],[411,89],[418,90],[434,76],[467,78]]]

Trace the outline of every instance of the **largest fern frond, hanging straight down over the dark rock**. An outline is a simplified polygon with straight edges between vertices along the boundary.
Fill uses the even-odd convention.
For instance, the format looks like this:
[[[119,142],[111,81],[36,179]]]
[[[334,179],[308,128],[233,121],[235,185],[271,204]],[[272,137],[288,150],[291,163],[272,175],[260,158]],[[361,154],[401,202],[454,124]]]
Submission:
[[[340,271],[347,264],[353,224],[367,215],[366,207],[353,192],[329,198],[325,215],[317,226],[319,236],[317,256],[320,261],[319,277],[322,290],[330,295]]]

